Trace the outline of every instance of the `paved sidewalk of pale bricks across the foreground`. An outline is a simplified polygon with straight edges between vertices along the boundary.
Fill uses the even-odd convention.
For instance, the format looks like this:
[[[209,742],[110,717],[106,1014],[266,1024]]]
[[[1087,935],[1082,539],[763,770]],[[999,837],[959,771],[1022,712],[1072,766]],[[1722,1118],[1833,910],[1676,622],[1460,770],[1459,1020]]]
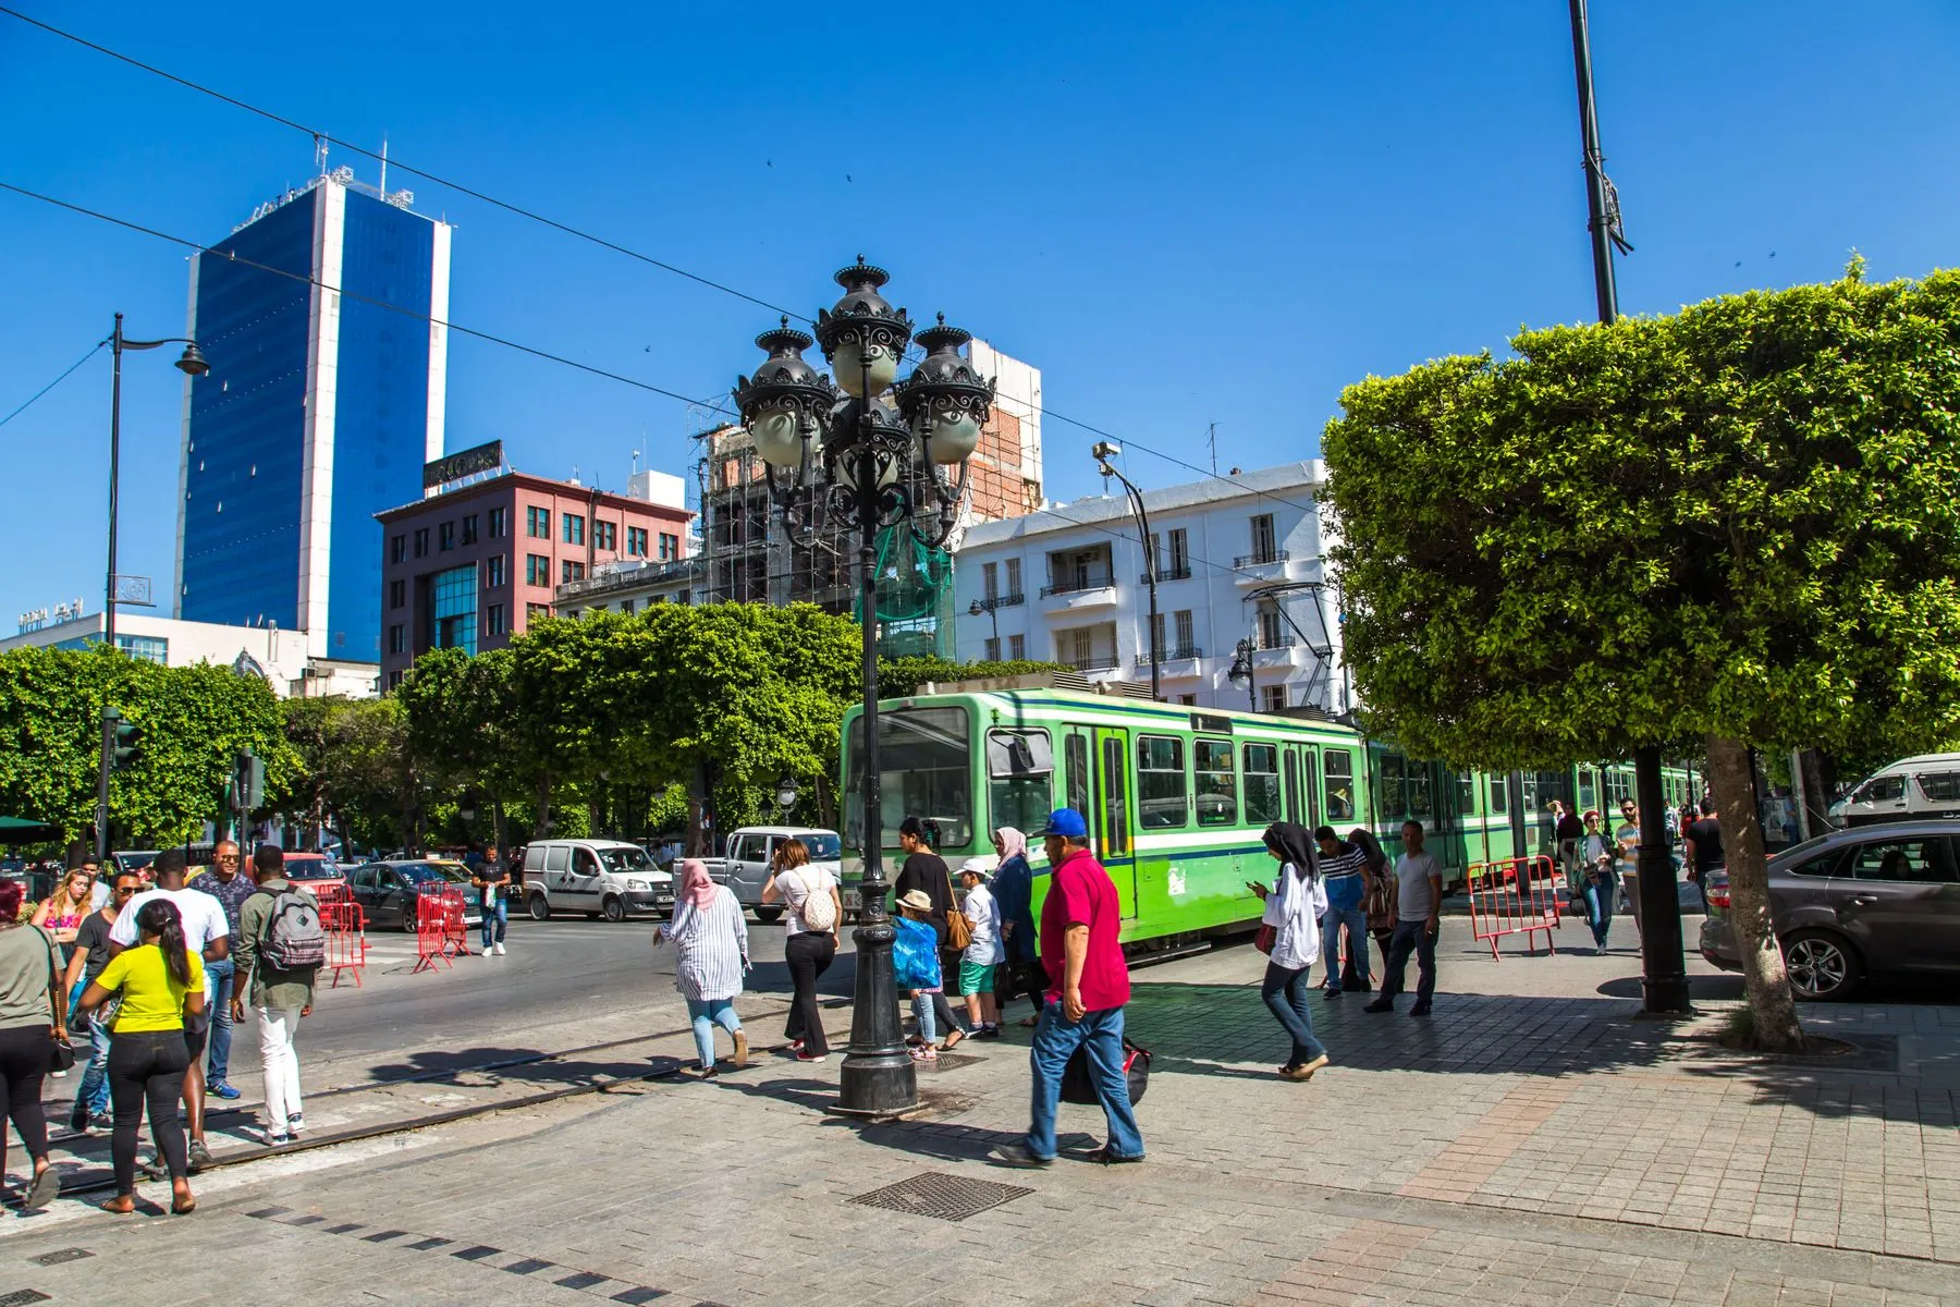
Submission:
[[[1470,954],[1427,1021],[1317,1003],[1305,1086],[1249,948],[1135,972],[1143,1166],[1080,1162],[1080,1107],[1054,1168],[984,1160],[1025,1127],[1013,1031],[921,1076],[913,1121],[827,1117],[839,1060],[770,1060],[225,1168],[190,1221],[61,1203],[0,1223],[0,1301],[188,1262],[172,1303],[1960,1303],[1960,1009],[1809,1007],[1858,1052],[1772,1066],[1713,1044],[1721,1001],[1637,1021],[1629,956]],[[933,1178],[1009,1189],[855,1201]],[[65,1248],[92,1256],[29,1260]]]

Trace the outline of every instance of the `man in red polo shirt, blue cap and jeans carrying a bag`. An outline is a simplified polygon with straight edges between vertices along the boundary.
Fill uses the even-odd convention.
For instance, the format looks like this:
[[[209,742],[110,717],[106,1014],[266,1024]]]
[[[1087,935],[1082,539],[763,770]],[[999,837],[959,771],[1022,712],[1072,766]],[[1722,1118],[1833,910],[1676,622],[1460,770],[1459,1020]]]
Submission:
[[[1005,1166],[1054,1162],[1054,1107],[1062,1095],[1062,1070],[1076,1048],[1086,1050],[1090,1082],[1109,1119],[1109,1142],[1092,1162],[1141,1162],[1143,1133],[1129,1105],[1123,1074],[1123,1003],[1129,1001],[1129,964],[1117,935],[1123,907],[1115,884],[1090,852],[1082,813],[1060,807],[1043,831],[1049,854],[1049,897],[1041,905],[1041,966],[1049,974],[1049,1005],[1035,1025],[1029,1064],[1035,1076],[1033,1125],[1025,1144],[994,1150]]]

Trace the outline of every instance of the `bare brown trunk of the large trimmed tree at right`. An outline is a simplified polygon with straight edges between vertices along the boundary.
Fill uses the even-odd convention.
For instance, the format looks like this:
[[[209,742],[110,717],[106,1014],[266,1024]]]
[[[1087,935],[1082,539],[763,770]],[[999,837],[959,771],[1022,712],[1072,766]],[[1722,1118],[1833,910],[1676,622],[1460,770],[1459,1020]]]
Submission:
[[[1784,950],[1770,919],[1770,864],[1756,819],[1748,745],[1729,735],[1709,735],[1709,790],[1721,811],[1721,847],[1729,860],[1729,929],[1742,954],[1742,982],[1756,1019],[1756,1046],[1764,1052],[1801,1052],[1803,1027],[1789,992]]]

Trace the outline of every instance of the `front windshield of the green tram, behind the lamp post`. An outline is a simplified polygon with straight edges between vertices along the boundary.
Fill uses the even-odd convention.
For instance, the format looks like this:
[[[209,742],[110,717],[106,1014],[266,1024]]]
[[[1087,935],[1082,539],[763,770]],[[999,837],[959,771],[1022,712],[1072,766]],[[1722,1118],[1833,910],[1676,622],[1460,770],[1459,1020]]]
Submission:
[[[864,848],[864,717],[845,743],[845,845]],[[906,817],[939,825],[945,848],[974,839],[972,745],[964,707],[892,707],[878,713],[880,845],[898,848]]]

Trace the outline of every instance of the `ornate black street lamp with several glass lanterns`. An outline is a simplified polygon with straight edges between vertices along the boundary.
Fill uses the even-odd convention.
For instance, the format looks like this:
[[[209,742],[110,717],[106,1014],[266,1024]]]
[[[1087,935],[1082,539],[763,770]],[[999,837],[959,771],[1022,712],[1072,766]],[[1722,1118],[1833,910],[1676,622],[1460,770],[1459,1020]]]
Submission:
[[[917,335],[906,310],[878,294],[884,268],[858,261],[837,272],[845,294],[817,310],[817,335],[790,319],[755,343],[768,359],[735,386],[735,404],[762,459],[770,496],[798,545],[835,515],[858,533],[858,613],[864,625],[864,878],[858,884],[857,990],[851,1050],[837,1109],[882,1117],[919,1099],[898,1021],[892,921],[886,915],[884,831],[878,798],[878,531],[906,525],[937,549],[953,535],[966,492],[966,459],[994,408],[994,382],[960,355],[972,337],[945,315]],[[927,353],[898,380],[907,341]],[[804,361],[821,345],[835,384]],[[890,400],[886,400],[890,392]]]

